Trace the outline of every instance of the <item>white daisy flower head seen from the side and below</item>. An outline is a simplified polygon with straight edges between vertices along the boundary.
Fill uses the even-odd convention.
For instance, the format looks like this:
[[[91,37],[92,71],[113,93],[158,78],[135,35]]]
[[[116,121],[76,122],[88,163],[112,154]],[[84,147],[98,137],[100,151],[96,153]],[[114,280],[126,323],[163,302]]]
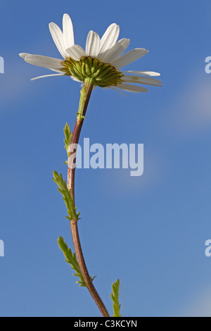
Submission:
[[[68,14],[63,15],[63,32],[55,23],[50,23],[49,29],[64,60],[27,53],[19,54],[27,63],[56,72],[53,75],[39,76],[32,80],[68,75],[73,80],[84,82],[89,77],[94,82],[94,86],[129,92],[148,92],[148,89],[139,84],[162,86],[160,80],[152,78],[152,76],[160,76],[159,73],[120,70],[146,55],[148,51],[138,48],[122,55],[129,46],[129,39],[123,38],[117,42],[120,34],[119,25],[111,24],[101,38],[96,32],[90,31],[85,50],[75,44],[72,20]],[[138,85],[133,85],[134,83]]]

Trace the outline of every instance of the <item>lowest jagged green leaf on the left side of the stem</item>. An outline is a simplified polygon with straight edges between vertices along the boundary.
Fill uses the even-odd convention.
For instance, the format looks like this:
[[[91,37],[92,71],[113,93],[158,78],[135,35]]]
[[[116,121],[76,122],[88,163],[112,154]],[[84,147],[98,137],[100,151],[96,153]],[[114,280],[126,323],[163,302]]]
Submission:
[[[76,283],[79,284],[79,286],[86,287],[75,253],[72,253],[71,249],[68,248],[68,245],[65,243],[63,237],[58,238],[58,246],[60,246],[60,249],[63,251],[63,254],[66,258],[66,262],[70,264],[72,270],[75,270],[75,273],[73,273],[72,275],[79,277],[79,280]],[[90,277],[91,281],[93,281],[94,278],[95,277]]]

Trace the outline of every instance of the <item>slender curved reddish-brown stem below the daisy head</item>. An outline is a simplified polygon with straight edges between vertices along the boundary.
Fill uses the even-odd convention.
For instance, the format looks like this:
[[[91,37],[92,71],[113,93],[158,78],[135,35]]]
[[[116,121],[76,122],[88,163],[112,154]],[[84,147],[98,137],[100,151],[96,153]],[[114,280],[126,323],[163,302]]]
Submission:
[[[82,125],[84,123],[84,116],[87,112],[87,106],[89,104],[89,99],[91,96],[91,91],[93,89],[93,81],[89,78],[85,80],[84,87],[81,91],[81,98],[79,101],[79,111],[77,113],[77,120],[75,122],[75,127],[72,132],[72,141],[71,145],[78,144],[79,142],[79,135],[82,130]],[[70,149],[71,150],[71,149]],[[77,145],[75,145],[75,152],[77,151]],[[73,151],[70,152],[69,160],[68,160],[68,189],[70,190],[71,197],[74,201],[75,205],[75,159],[72,160]],[[79,232],[77,227],[77,220],[71,220],[70,221],[70,228],[72,233],[72,241],[75,247],[75,254],[77,256],[77,261],[79,263],[79,268],[82,272],[82,276],[84,278],[84,282],[87,286],[87,289],[89,290],[92,298],[96,302],[96,305],[98,306],[99,310],[101,311],[103,317],[109,317],[108,311],[106,309],[106,306],[103,304],[103,301],[101,300],[101,297],[99,296],[98,292],[96,291],[96,288],[93,285],[93,282],[91,281],[91,277],[89,276],[89,272],[87,270],[86,263],[84,261],[84,256],[82,252],[82,246],[80,244],[79,239]]]

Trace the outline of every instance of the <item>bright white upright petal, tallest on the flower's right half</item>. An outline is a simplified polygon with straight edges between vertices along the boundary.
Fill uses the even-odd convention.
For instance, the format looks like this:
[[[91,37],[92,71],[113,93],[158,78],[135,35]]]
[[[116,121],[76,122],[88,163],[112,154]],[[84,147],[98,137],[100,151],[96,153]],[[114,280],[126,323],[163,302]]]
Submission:
[[[108,51],[108,49],[113,47],[117,42],[119,35],[120,26],[115,23],[111,24],[101,38],[100,53],[102,54],[104,51]]]

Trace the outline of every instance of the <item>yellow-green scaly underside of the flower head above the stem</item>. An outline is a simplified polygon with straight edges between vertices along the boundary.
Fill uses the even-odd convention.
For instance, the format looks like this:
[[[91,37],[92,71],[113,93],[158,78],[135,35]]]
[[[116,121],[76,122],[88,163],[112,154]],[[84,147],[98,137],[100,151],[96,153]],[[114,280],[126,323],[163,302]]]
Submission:
[[[122,82],[123,73],[120,70],[91,56],[83,56],[79,61],[66,58],[63,66],[62,70],[66,75],[75,77],[81,82],[87,77],[92,78],[94,85],[99,87],[116,86]]]

